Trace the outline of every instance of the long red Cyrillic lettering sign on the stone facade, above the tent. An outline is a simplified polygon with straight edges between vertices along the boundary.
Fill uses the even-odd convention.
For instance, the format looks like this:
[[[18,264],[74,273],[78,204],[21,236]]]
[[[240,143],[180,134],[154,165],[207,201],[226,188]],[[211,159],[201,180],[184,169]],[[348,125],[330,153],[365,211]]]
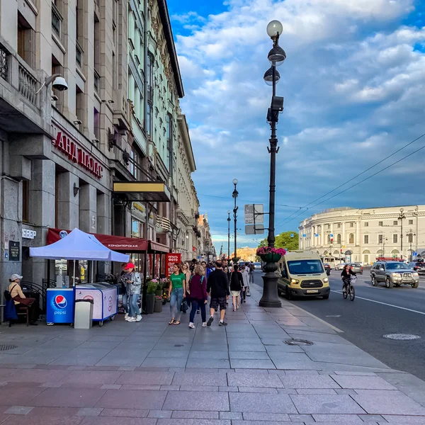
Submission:
[[[53,134],[55,139],[52,139],[52,145],[59,149],[75,164],[79,164],[84,169],[94,174],[98,179],[103,176],[103,166],[92,154],[86,151],[79,143],[65,132],[58,125],[52,123]]]

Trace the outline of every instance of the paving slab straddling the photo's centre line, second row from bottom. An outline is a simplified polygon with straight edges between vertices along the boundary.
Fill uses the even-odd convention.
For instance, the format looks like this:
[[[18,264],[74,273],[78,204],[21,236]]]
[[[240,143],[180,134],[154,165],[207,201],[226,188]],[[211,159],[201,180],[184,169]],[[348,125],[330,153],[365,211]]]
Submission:
[[[226,392],[170,391],[164,409],[229,411],[229,397]]]

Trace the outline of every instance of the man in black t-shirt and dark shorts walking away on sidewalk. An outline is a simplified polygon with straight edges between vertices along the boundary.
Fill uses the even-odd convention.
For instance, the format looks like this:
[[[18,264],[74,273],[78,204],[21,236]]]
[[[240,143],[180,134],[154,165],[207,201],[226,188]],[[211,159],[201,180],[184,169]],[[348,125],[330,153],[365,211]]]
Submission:
[[[208,319],[207,326],[210,327],[214,320],[214,312],[220,306],[220,323],[218,326],[226,326],[226,302],[229,298],[229,280],[227,280],[226,273],[222,271],[222,262],[215,261],[215,271],[210,273],[207,280],[207,293],[211,295],[210,301],[210,319]]]

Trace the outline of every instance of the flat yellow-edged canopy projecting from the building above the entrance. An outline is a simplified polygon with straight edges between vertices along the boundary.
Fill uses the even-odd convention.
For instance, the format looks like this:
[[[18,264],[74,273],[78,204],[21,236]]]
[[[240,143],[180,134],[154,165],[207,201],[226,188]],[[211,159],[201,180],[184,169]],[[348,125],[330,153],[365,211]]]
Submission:
[[[169,188],[160,181],[114,181],[113,193],[125,195],[133,202],[171,202]]]

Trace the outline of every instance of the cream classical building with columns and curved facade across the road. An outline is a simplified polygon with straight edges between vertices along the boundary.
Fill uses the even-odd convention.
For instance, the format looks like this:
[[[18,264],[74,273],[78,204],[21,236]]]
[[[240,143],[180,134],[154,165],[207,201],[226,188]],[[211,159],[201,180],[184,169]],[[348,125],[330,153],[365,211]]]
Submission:
[[[331,208],[300,222],[300,249],[329,262],[409,259],[425,246],[425,205]]]

